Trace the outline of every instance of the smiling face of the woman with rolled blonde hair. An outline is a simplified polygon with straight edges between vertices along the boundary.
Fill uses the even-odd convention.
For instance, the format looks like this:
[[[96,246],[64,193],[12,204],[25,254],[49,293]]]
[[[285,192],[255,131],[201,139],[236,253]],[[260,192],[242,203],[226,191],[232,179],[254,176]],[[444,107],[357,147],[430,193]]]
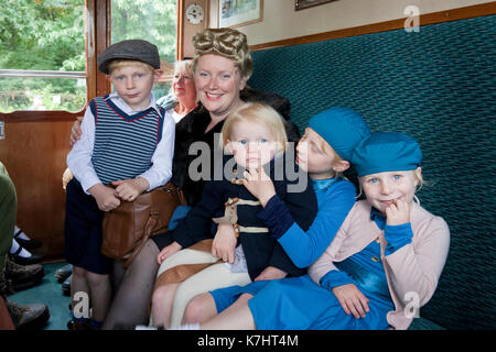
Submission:
[[[246,86],[235,63],[227,57],[206,54],[197,59],[196,94],[211,116],[225,118],[242,103],[239,91]]]

